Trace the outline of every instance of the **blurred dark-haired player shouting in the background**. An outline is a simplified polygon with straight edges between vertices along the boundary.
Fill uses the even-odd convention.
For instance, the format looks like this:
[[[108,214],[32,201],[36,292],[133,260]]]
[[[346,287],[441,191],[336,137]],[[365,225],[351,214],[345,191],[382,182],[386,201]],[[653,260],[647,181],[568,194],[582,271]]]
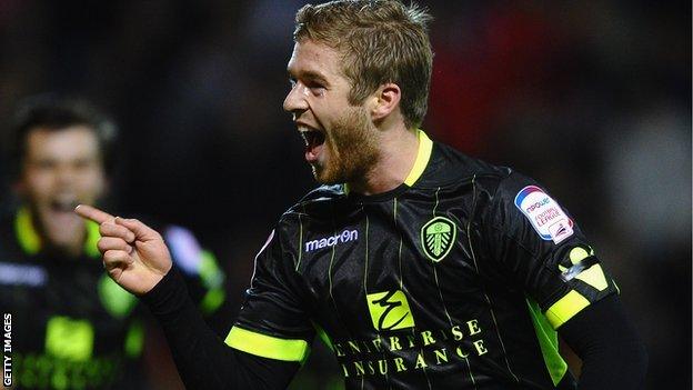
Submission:
[[[19,207],[0,219],[0,308],[12,316],[14,386],[147,388],[137,299],[103,274],[99,226],[72,212],[108,194],[116,124],[84,101],[42,96],[13,130]],[[213,256],[190,231],[159,228],[199,308],[218,310],[224,276]]]

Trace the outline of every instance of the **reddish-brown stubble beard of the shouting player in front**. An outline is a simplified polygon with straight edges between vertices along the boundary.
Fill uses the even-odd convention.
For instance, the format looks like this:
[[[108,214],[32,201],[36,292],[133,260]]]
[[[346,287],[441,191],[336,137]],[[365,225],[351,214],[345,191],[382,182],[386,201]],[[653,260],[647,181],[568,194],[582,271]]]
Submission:
[[[329,159],[313,166],[313,176],[322,184],[362,180],[380,159],[376,129],[361,107],[350,108],[327,133]]]

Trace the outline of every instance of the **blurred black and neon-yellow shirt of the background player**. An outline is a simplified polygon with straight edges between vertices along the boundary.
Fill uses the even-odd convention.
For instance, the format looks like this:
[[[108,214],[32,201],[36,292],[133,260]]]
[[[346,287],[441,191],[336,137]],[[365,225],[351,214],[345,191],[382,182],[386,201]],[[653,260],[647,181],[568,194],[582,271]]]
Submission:
[[[0,219],[0,312],[11,316],[2,354],[14,389],[147,388],[137,298],[103,272],[99,227],[86,227],[83,251],[70,258],[42,244],[27,209]],[[214,311],[224,300],[215,260],[188,230],[162,231],[195,301]]]

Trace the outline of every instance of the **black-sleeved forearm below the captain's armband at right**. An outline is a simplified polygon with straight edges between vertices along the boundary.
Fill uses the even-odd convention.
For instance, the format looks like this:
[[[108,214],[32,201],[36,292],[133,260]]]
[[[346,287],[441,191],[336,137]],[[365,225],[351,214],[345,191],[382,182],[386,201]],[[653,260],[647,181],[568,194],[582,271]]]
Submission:
[[[617,296],[584,309],[559,331],[582,359],[579,390],[643,388],[646,351]]]

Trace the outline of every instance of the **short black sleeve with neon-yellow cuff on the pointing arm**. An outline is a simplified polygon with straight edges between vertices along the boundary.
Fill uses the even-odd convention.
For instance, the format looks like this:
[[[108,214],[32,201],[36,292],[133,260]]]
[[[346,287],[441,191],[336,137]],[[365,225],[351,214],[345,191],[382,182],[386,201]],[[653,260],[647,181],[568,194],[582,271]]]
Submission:
[[[282,249],[277,231],[255,258],[250,289],[225,342],[263,358],[302,362],[314,337],[292,254]]]

